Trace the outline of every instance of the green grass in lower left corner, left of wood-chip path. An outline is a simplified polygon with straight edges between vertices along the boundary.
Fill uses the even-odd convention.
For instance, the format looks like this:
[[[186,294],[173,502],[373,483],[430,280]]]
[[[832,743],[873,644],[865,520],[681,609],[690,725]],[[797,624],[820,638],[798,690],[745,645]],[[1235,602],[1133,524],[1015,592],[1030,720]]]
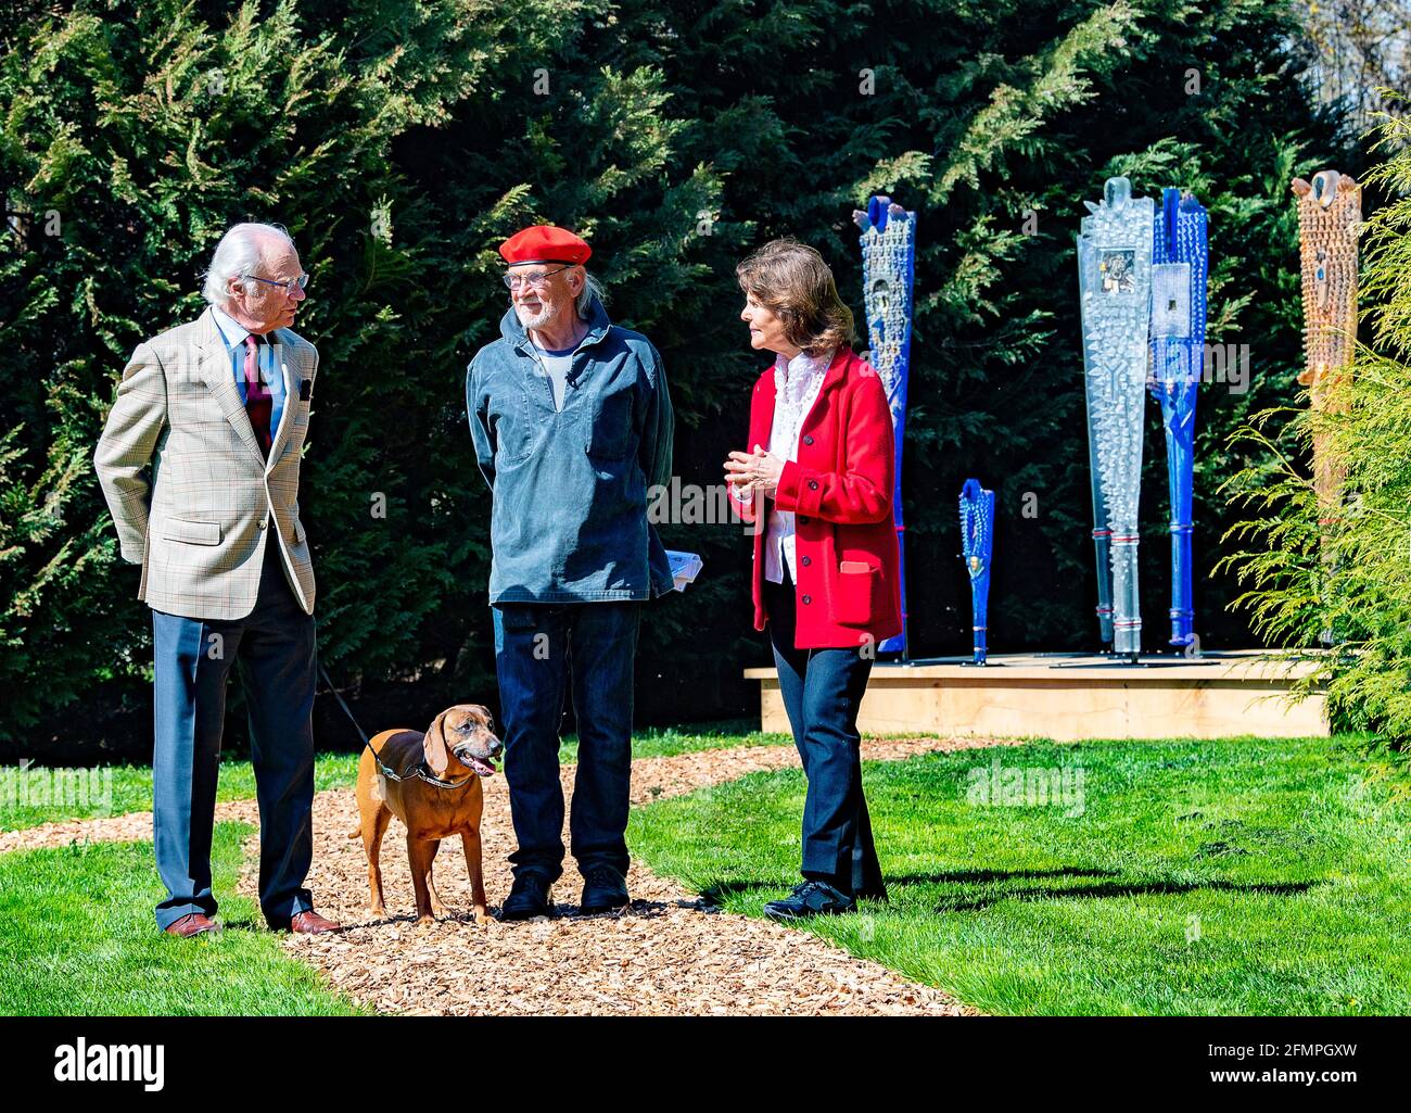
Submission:
[[[214,888],[226,931],[157,929],[152,845],[90,843],[0,859],[0,1016],[341,1016],[357,1007],[285,955],[237,897],[244,823],[217,823]]]

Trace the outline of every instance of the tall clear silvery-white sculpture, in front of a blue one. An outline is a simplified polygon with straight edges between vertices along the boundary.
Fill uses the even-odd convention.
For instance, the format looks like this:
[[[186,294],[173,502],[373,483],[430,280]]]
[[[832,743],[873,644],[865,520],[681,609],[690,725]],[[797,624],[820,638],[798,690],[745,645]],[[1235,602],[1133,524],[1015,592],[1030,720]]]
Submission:
[[[1103,619],[1110,600],[1113,653],[1136,661],[1141,651],[1137,504],[1154,206],[1151,198],[1132,196],[1132,182],[1126,178],[1109,178],[1102,202],[1084,205],[1089,215],[1082,218],[1078,234],[1078,288],[1098,614]],[[1108,621],[1102,621],[1102,633],[1108,636]]]

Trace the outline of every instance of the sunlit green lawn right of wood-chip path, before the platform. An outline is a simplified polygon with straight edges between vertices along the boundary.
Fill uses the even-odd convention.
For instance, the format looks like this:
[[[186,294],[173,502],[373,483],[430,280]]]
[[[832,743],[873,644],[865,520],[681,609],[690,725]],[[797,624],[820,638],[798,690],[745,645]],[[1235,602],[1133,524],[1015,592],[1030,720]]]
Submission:
[[[972,770],[996,758],[986,804]],[[1081,814],[1005,802],[1007,770],[1074,790],[1079,763]],[[868,763],[890,904],[806,929],[988,1013],[1407,1014],[1411,807],[1364,768],[1328,739]],[[803,795],[799,771],[753,774],[638,808],[628,840],[761,915],[797,880]]]

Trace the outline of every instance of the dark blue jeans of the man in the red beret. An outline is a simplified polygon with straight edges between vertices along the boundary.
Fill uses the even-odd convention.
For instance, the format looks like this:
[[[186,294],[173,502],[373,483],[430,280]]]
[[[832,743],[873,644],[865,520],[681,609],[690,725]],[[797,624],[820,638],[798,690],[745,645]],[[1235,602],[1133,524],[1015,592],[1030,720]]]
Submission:
[[[563,873],[559,722],[566,692],[579,722],[579,766],[569,816],[580,871],[607,863],[626,876],[632,778],[632,665],[639,603],[501,603],[495,672],[504,720],[505,781],[519,843],[518,876]]]

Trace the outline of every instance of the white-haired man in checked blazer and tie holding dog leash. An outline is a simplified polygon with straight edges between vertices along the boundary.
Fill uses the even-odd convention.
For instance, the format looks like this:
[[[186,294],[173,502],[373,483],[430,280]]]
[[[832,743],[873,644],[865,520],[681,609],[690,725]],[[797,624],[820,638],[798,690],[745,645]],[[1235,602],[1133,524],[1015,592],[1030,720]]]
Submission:
[[[288,233],[236,225],[196,321],[137,346],[93,463],[152,609],[157,924],[210,931],[226,679],[244,662],[260,799],[260,904],[275,929],[337,927],[303,887],[313,852],[313,568],[299,460],[319,353],[289,329],[309,277]]]

